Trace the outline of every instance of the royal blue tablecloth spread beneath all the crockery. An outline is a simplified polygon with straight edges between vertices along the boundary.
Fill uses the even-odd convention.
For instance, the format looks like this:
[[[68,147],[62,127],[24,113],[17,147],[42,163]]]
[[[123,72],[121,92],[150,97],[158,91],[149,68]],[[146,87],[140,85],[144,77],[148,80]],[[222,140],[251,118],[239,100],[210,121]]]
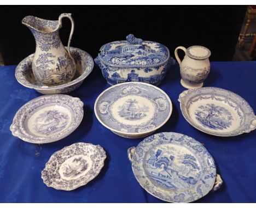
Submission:
[[[126,139],[103,127],[95,117],[94,102],[109,87],[95,66],[82,86],[71,93],[84,102],[84,119],[70,136],[50,144],[30,144],[13,137],[9,130],[18,109],[34,97],[33,89],[20,85],[15,66],[0,67],[0,202],[161,203],[139,185],[127,159],[127,149],[142,139]],[[199,203],[256,202],[256,131],[236,137],[214,137],[196,130],[182,116],[178,96],[179,66],[167,72],[159,87],[172,100],[171,118],[158,132],[179,132],[205,144],[213,156],[223,186],[197,200]],[[228,89],[247,100],[256,111],[256,62],[212,62],[205,86]],[[101,173],[74,191],[46,187],[41,171],[51,154],[76,142],[100,144],[107,152]]]

